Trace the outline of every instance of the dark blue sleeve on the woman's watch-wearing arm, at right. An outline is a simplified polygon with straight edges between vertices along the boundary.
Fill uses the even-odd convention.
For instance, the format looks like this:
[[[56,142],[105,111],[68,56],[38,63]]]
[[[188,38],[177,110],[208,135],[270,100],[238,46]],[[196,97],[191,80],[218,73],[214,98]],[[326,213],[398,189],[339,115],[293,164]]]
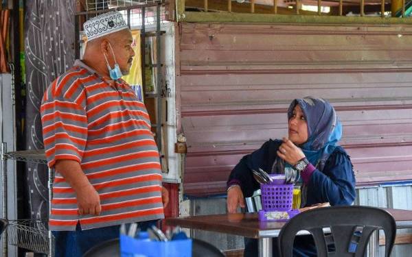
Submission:
[[[329,162],[329,163],[328,163]],[[347,154],[337,151],[330,156],[323,171],[315,169],[308,181],[308,205],[329,202],[345,206],[356,197],[355,176]]]

